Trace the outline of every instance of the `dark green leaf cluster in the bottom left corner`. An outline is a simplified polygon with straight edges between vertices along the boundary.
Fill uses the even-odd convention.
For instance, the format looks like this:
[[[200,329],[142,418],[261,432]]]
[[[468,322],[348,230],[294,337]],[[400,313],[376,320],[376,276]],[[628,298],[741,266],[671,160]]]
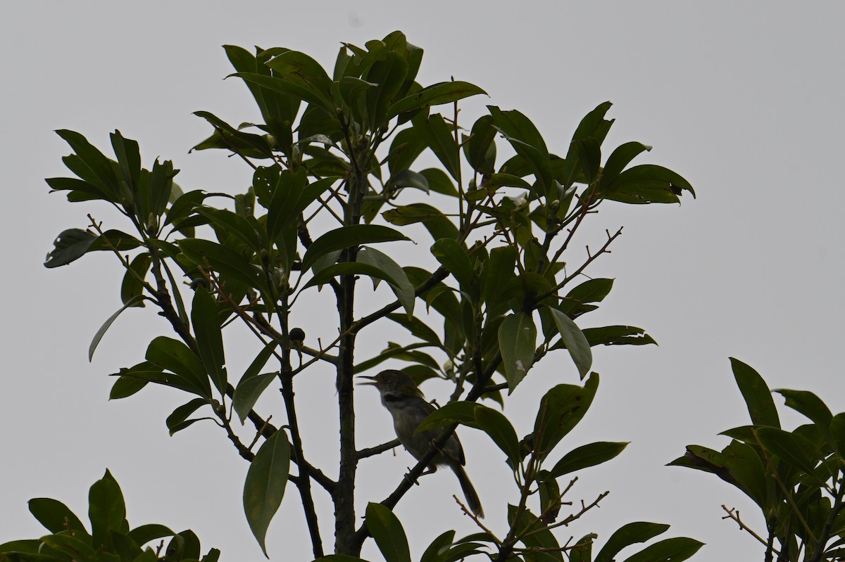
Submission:
[[[155,523],[129,527],[123,492],[107,470],[91,486],[88,504],[90,531],[61,501],[30,500],[30,512],[50,534],[0,544],[0,562],[217,562],[220,558],[216,548],[200,558],[199,538],[190,529],[172,532]],[[155,550],[144,548],[155,541]]]

